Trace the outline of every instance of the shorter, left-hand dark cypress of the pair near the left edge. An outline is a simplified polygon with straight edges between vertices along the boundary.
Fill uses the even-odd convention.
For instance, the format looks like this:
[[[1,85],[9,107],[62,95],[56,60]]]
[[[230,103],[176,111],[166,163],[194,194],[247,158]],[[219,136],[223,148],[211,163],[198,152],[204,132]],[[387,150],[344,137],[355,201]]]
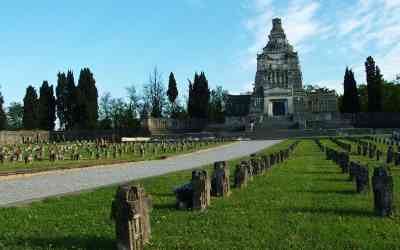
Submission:
[[[39,100],[36,90],[28,86],[24,97],[24,116],[22,119],[24,129],[37,129],[39,127]]]

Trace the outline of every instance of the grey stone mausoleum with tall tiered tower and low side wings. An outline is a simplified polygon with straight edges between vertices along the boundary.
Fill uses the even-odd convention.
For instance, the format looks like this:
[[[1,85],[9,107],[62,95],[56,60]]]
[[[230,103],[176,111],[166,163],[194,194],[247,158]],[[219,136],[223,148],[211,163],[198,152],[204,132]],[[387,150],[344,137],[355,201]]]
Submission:
[[[244,105],[249,106],[246,115],[258,121],[301,119],[310,117],[310,113],[337,112],[335,91],[303,88],[299,55],[289,43],[281,19],[272,20],[268,38],[262,53],[257,55],[253,93],[242,98],[229,96],[228,116],[243,116],[243,111],[247,111]]]

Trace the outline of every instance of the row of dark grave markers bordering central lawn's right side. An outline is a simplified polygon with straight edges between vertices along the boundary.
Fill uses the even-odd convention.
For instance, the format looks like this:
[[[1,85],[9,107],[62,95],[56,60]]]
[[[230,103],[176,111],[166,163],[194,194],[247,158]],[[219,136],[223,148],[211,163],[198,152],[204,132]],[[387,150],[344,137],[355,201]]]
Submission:
[[[342,173],[349,175],[349,180],[355,182],[357,193],[367,193],[370,190],[369,169],[367,166],[350,160],[349,152],[340,152],[324,146],[315,140],[326,159],[332,160],[342,169]],[[390,170],[384,166],[374,169],[372,176],[372,190],[374,193],[374,208],[378,216],[386,217],[393,213],[393,177]]]

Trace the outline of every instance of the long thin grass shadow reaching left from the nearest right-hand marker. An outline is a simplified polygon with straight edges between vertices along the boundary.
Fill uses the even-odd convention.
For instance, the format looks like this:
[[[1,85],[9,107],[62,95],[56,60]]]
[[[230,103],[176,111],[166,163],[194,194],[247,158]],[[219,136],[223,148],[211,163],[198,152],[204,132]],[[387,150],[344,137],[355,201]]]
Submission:
[[[292,207],[292,208],[286,208],[285,210],[288,213],[334,214],[340,216],[365,217],[365,218],[375,217],[375,214],[372,211],[362,210],[362,209],[352,209],[352,208]]]

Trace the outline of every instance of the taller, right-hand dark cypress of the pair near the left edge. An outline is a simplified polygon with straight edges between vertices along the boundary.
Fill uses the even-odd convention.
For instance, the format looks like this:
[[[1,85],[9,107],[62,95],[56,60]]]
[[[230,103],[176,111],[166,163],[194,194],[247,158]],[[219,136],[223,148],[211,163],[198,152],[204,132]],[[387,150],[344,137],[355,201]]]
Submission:
[[[54,130],[56,121],[56,98],[53,86],[44,81],[40,87],[39,97],[39,128],[43,130]]]

